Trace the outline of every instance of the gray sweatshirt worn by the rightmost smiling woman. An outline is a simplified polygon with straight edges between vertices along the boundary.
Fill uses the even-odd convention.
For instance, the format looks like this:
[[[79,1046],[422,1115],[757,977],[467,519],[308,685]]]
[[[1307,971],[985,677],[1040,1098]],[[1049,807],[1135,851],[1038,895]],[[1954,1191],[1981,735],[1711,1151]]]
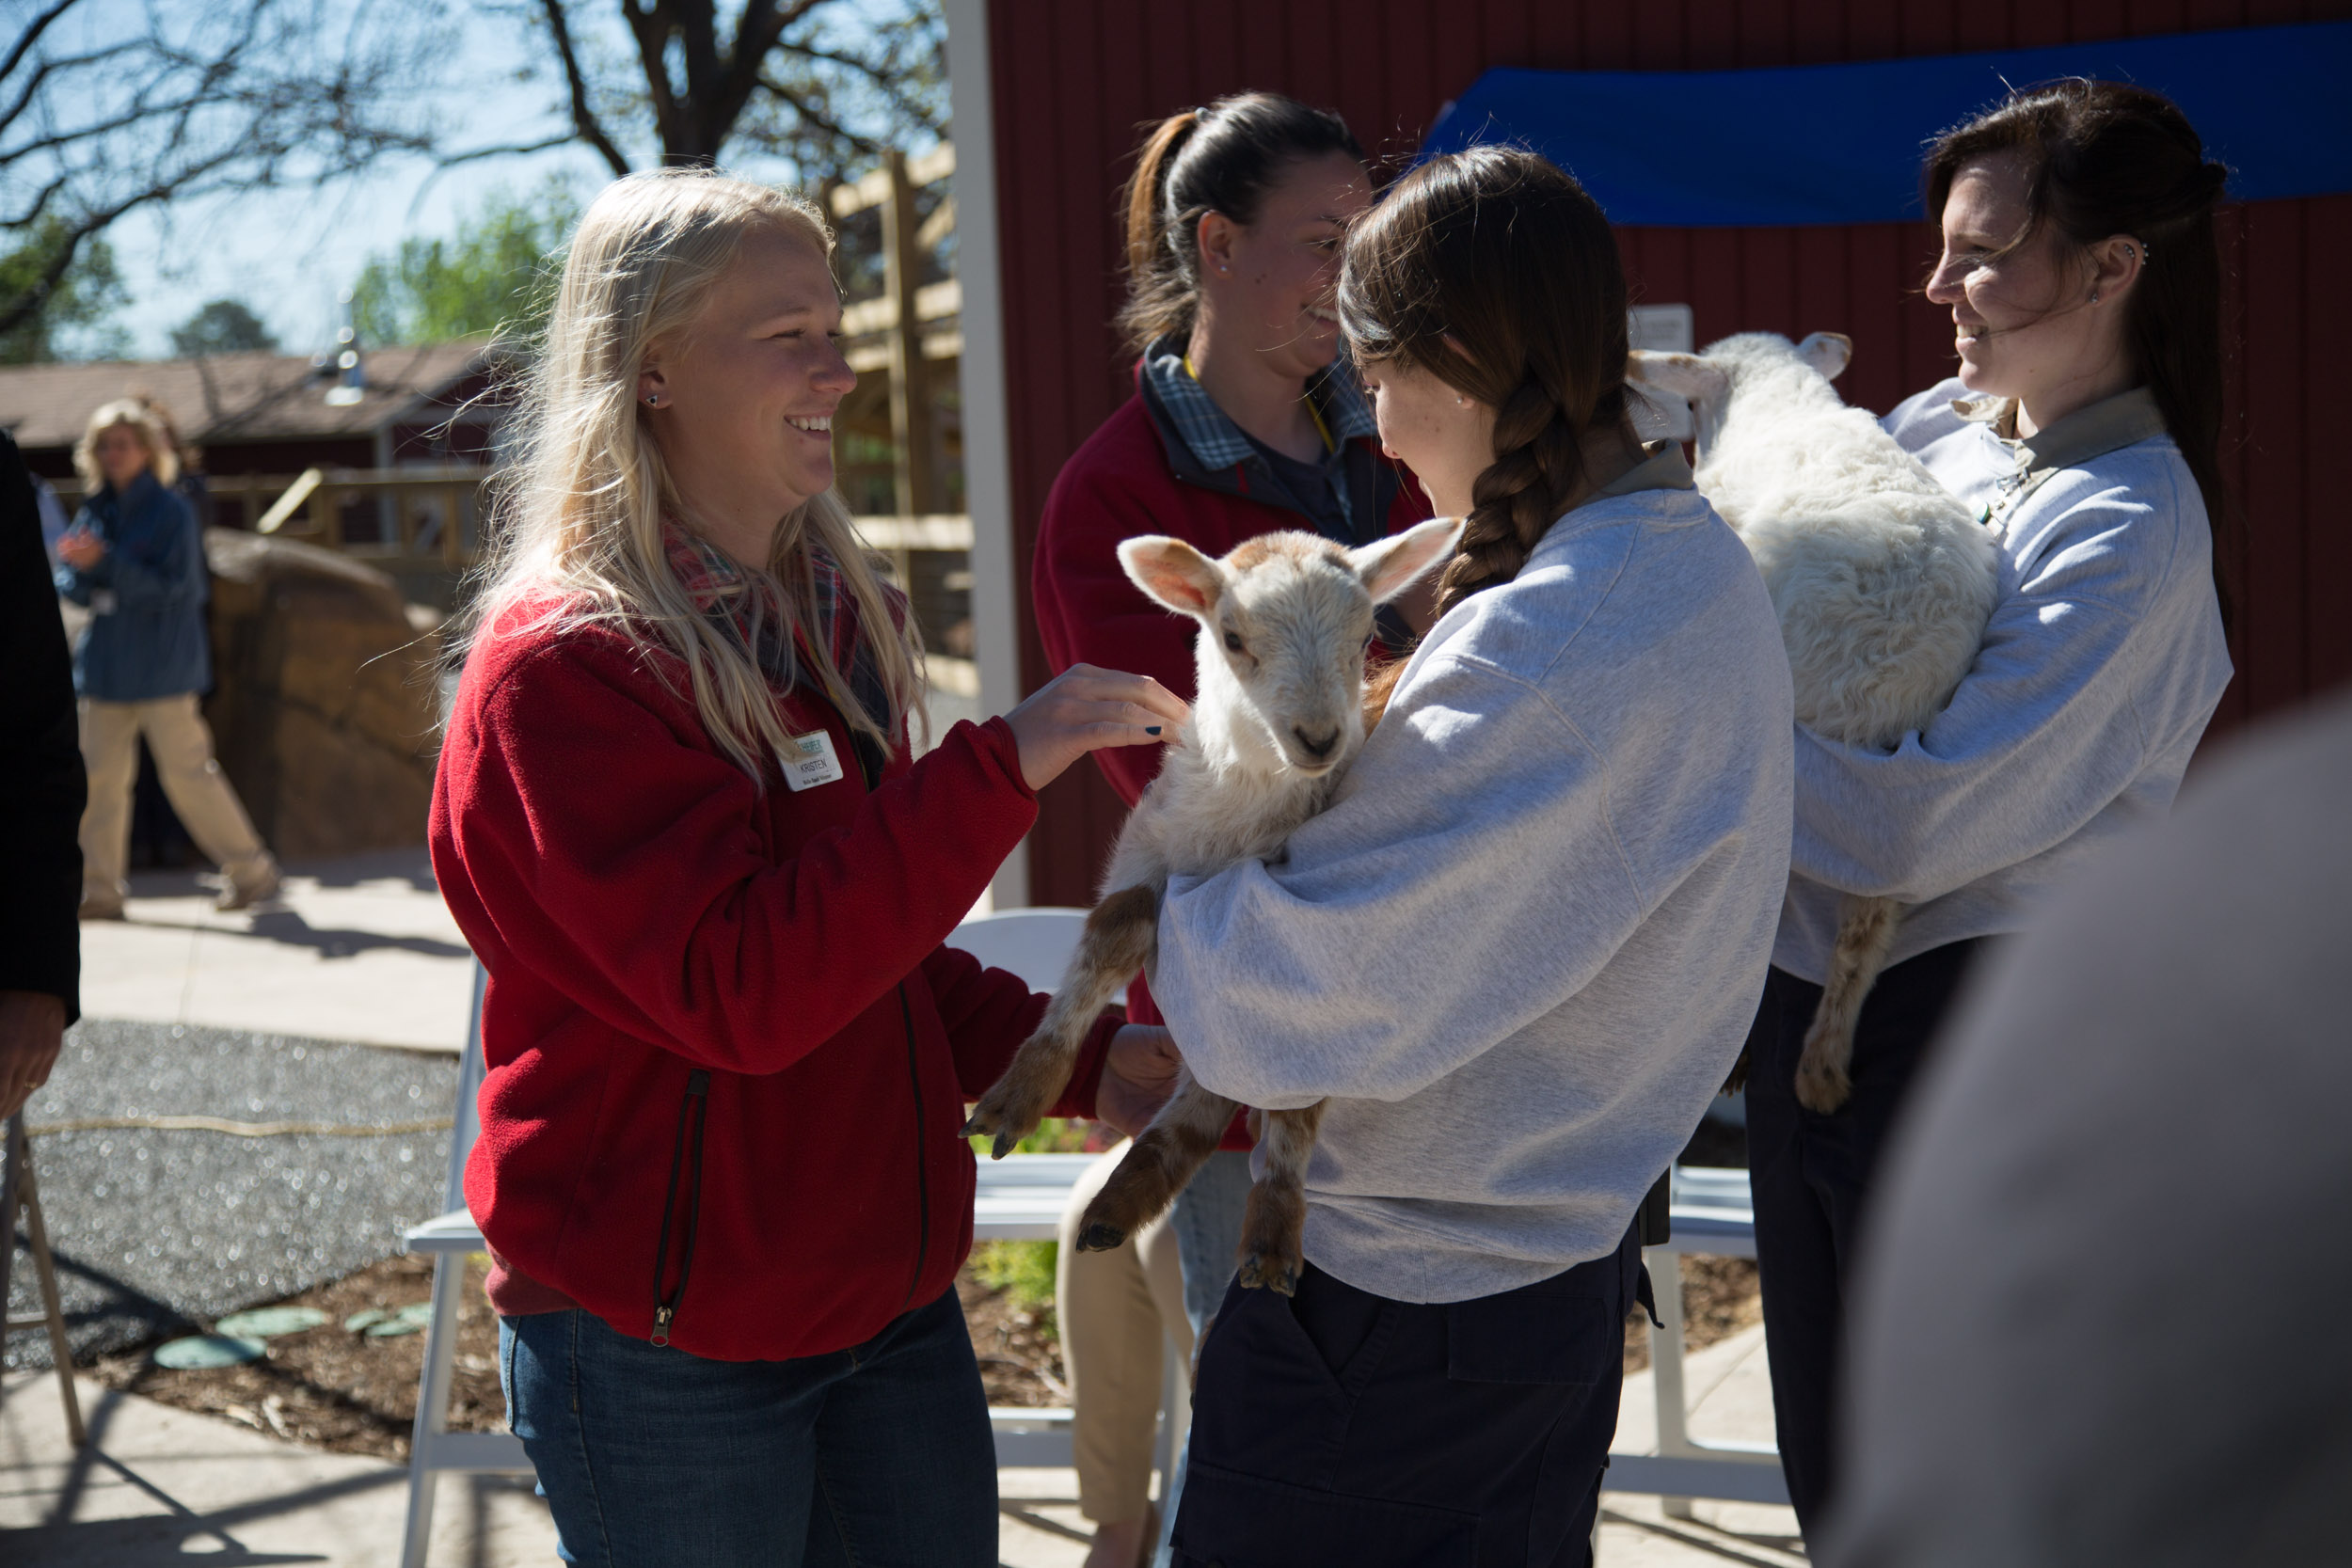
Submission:
[[[1797,731],[1773,964],[1820,980],[1842,891],[1910,907],[1889,961],[2016,931],[2114,837],[2164,816],[2230,684],[2197,480],[2140,388],[2016,442],[1945,381],[1882,423],[1985,508],[2002,583],[1952,703],[1893,752]]]

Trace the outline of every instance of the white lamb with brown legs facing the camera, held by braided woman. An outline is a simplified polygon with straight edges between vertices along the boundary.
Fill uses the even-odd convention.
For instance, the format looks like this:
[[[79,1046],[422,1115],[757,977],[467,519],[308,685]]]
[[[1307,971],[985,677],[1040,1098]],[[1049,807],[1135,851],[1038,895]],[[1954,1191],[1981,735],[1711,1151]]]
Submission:
[[[1458,517],[1437,517],[1359,550],[1315,534],[1261,534],[1221,559],[1181,538],[1120,545],[1136,588],[1200,621],[1192,719],[1120,830],[1101,903],[1087,914],[1054,1004],[981,1095],[967,1135],[995,1133],[1002,1159],[1037,1126],[1070,1081],[1094,1018],[1138,966],[1150,976],[1171,875],[1207,877],[1277,856],[1331,802],[1364,743],[1371,607],[1437,564],[1458,531]],[[1232,1100],[1181,1074],[1176,1095],[1087,1208],[1080,1248],[1117,1246],[1167,1208],[1216,1152],[1232,1112]],[[1322,1105],[1263,1117],[1265,1175],[1242,1215],[1240,1276],[1289,1295]]]

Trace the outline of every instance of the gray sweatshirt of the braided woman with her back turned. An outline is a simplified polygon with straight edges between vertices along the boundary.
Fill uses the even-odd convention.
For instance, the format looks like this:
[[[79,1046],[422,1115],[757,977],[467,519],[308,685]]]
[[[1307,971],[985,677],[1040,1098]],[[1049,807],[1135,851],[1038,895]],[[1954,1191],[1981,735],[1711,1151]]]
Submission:
[[[1209,1088],[1331,1100],[1305,1255],[1411,1302],[1613,1251],[1755,1018],[1792,696],[1665,444],[1423,639],[1279,863],[1176,879],[1152,997]]]

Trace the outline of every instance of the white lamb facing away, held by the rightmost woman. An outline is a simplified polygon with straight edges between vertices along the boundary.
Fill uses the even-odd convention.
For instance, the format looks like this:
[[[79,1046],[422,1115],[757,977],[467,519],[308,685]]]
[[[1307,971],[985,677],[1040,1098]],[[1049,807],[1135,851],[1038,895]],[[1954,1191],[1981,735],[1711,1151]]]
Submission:
[[[1632,378],[1684,397],[1698,489],[1755,555],[1780,614],[1797,722],[1891,750],[1926,726],[1976,658],[1997,592],[1992,534],[1830,381],[1853,341],[1745,331],[1698,355],[1635,353]],[[1849,896],[1797,1100],[1846,1103],[1853,1023],[1903,905]]]

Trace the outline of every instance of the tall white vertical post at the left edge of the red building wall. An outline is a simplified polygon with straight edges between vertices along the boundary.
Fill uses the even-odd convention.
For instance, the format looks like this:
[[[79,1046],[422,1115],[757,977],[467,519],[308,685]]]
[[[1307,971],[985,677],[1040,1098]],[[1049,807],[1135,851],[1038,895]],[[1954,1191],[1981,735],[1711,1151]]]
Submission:
[[[988,75],[988,0],[946,0],[955,113],[955,273],[964,292],[964,510],[971,512],[971,635],[981,708],[1021,691],[1021,557],[1014,550],[1011,428],[1004,390],[1004,292],[997,254],[997,148]],[[993,907],[1025,910],[1028,839],[1007,856]]]

